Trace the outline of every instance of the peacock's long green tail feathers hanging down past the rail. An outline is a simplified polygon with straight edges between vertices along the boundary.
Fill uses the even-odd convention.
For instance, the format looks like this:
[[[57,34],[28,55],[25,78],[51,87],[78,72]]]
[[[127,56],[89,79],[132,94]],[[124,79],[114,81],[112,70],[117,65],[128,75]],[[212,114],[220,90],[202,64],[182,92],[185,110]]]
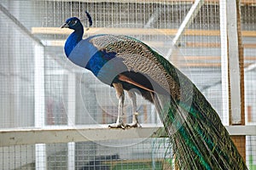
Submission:
[[[171,77],[168,79],[170,103],[162,100],[160,118],[171,139],[178,167],[246,170],[230,134],[204,95],[174,65],[160,54],[152,53]],[[158,98],[161,95],[157,94]]]

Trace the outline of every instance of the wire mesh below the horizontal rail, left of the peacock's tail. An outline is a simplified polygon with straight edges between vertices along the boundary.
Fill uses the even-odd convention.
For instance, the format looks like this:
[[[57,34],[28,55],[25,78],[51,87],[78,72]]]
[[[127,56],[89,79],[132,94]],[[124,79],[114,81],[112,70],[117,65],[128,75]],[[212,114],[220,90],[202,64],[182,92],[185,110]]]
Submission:
[[[137,139],[131,140],[136,142]],[[122,147],[107,146],[113,142],[128,144],[129,140],[104,141],[105,145],[79,142],[73,148],[69,144],[45,144],[45,150],[36,150],[35,145],[2,147],[0,166],[1,169],[35,169],[36,162],[41,161],[47,169],[161,169],[170,159],[164,145],[167,139],[144,139]],[[36,159],[35,150],[44,154],[44,158]],[[73,155],[74,164],[71,164],[69,155]]]

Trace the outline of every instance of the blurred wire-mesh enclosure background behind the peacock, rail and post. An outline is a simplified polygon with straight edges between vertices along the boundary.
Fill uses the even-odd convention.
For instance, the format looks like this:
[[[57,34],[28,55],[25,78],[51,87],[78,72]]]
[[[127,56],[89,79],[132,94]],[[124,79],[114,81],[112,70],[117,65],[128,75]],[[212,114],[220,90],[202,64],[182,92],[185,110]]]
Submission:
[[[223,1],[223,2],[221,2]],[[73,65],[63,45],[72,32],[61,25],[79,17],[84,38],[111,33],[146,42],[183,71],[229,126],[227,59],[221,29],[224,0],[205,0],[183,27],[194,0],[0,0],[0,131],[104,127],[117,116],[113,88]],[[245,124],[256,124],[256,1],[241,0]],[[84,29],[85,30],[85,29]],[[127,95],[126,95],[127,96]],[[139,121],[159,127],[154,105],[140,96]],[[131,101],[125,100],[131,122]],[[256,128],[254,128],[256,129]],[[245,158],[256,169],[255,132],[245,132]],[[149,137],[149,135],[148,135]],[[47,138],[47,137],[46,137]],[[160,146],[159,146],[160,144]],[[172,157],[165,138],[111,139],[0,147],[0,169],[161,169]],[[164,160],[164,161],[163,161]],[[168,164],[168,163],[166,163]],[[170,166],[170,163],[168,164]],[[165,167],[171,169],[171,167]]]

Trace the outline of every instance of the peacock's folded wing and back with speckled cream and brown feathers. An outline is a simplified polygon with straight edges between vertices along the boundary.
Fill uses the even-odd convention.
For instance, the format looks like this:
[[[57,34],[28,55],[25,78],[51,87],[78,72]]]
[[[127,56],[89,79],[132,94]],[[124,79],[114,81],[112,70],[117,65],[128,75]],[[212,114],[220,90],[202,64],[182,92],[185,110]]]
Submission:
[[[132,37],[114,35],[93,37],[90,42],[98,50],[104,53],[115,53],[115,59],[122,60],[126,71],[121,70],[123,73],[119,72],[121,76],[119,78],[123,81],[142,86],[148,91],[172,94],[173,97],[179,95],[178,77],[170,76],[177,75],[177,73],[171,74],[170,71],[175,72],[175,70],[166,68],[170,63],[145,43]],[[117,70],[120,69],[117,68]],[[145,83],[143,77],[146,77],[151,84]]]

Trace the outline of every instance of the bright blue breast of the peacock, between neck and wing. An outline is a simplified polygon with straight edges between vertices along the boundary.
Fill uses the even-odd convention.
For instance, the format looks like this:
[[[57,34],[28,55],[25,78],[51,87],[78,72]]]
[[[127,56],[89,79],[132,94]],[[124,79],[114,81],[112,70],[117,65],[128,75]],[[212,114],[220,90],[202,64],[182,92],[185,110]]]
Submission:
[[[122,59],[116,58],[116,53],[96,48],[90,42],[91,38],[93,37],[80,41],[73,48],[68,59],[75,65],[90,70],[98,79],[110,85],[120,71],[127,71],[127,69]]]

